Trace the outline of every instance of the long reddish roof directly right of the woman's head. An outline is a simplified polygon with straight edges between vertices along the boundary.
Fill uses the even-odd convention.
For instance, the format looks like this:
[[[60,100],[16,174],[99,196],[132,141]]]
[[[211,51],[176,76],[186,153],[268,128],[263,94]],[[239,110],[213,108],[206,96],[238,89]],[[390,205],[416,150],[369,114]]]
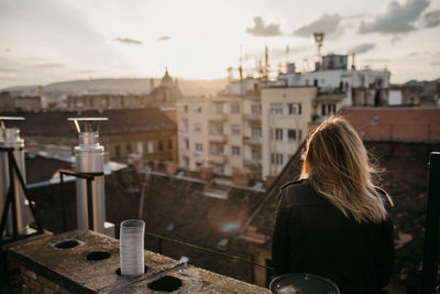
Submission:
[[[363,140],[440,142],[440,108],[345,107],[340,115]]]

